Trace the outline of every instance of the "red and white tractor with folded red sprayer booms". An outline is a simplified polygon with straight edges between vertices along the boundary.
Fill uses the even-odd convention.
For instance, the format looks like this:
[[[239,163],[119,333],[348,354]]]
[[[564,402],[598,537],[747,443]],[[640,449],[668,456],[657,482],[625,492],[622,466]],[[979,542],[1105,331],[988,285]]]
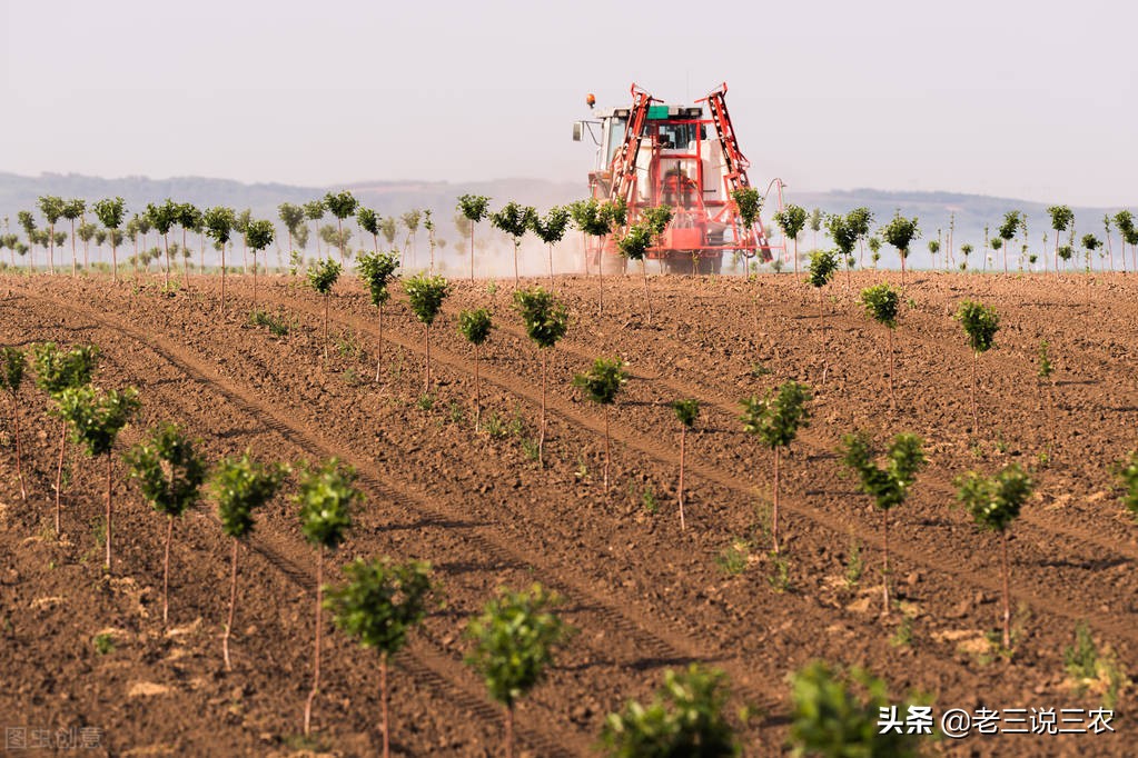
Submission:
[[[624,199],[628,224],[635,224],[645,208],[671,207],[670,223],[646,253],[661,270],[718,274],[724,252],[770,260],[773,248],[761,220],[744,228],[733,200],[735,190],[750,186],[750,163],[739,149],[727,113],[726,83],[691,106],[663,103],[636,84],[630,92],[630,106],[608,110],[594,109],[596,100],[589,94],[586,102],[593,118],[574,124],[575,141],[587,132],[596,144],[596,163],[588,174],[591,197]],[[778,190],[781,207],[781,182]],[[586,240],[586,273],[594,266],[602,274],[625,272],[627,260],[615,236]]]

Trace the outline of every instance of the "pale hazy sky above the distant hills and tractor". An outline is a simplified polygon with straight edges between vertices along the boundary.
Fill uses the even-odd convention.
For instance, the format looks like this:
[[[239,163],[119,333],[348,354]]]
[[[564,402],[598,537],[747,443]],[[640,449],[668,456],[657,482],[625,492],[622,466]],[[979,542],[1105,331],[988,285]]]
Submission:
[[[1138,5],[0,0],[0,170],[580,180],[726,81],[753,184],[1138,205]]]

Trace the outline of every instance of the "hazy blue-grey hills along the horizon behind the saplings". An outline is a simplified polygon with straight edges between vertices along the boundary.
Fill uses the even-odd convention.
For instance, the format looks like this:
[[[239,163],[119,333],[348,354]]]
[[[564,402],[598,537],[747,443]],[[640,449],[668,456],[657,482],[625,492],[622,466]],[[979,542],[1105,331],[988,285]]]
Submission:
[[[351,190],[360,200],[385,216],[398,216],[406,210],[430,209],[436,218],[438,236],[455,244],[459,238],[452,219],[455,201],[460,194],[477,193],[494,199],[495,205],[508,200],[531,205],[538,209],[563,205],[585,195],[585,180],[582,182],[550,182],[534,178],[500,178],[478,183],[452,184],[448,182],[373,181],[356,182],[335,188],[296,186],[288,184],[245,184],[231,180],[200,176],[154,180],[145,176],[123,178],[100,178],[79,174],[41,174],[20,176],[0,173],[0,220],[10,218],[16,225],[16,213],[22,209],[36,210],[36,199],[43,194],[63,198],[86,198],[89,201],[106,197],[122,197],[131,213],[140,211],[147,202],[173,198],[192,202],[199,207],[226,205],[234,208],[251,208],[257,217],[277,220],[277,207],[281,202],[304,202],[322,197],[329,190]],[[1048,233],[1048,245],[1054,245],[1054,232],[1046,214],[1046,206],[1012,198],[993,198],[979,194],[954,192],[889,192],[882,190],[855,189],[826,192],[787,192],[786,202],[794,202],[807,209],[820,208],[826,213],[846,213],[865,206],[875,216],[876,223],[888,220],[896,210],[920,219],[922,238],[910,259],[914,265],[929,264],[927,242],[937,239],[938,230],[947,238],[950,219],[955,223],[955,247],[968,242],[978,251],[973,259],[979,265],[979,251],[983,244],[983,228],[989,225],[995,234],[1008,210],[1022,210],[1028,215],[1029,241],[1033,252],[1041,251],[1042,235]],[[764,218],[775,210],[774,202],[767,203]],[[1103,216],[1113,215],[1114,208],[1073,208],[1077,233],[1081,236],[1090,232],[1103,238]],[[39,214],[36,214],[39,216]],[[42,219],[41,224],[42,224]],[[501,245],[502,240],[492,241]],[[530,243],[533,244],[533,243]],[[827,244],[819,234],[818,245]],[[806,231],[800,238],[800,249],[813,245],[813,235]],[[1015,242],[1019,251],[1020,242]],[[883,249],[882,264],[897,265],[892,250]]]

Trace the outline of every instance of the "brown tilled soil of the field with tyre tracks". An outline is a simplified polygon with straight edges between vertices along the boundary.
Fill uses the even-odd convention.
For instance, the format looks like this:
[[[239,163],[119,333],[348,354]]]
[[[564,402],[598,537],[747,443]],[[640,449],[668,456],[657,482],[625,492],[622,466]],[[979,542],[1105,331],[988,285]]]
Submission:
[[[387,678],[395,755],[503,755],[503,708],[464,660],[464,630],[498,588],[535,583],[576,631],[517,702],[517,755],[595,755],[609,714],[650,702],[666,670],[692,664],[724,673],[743,755],[778,755],[795,722],[790,677],[815,660],[864,668],[902,716],[923,703],[938,723],[954,708],[1113,713],[1102,733],[1089,718],[1086,733],[974,730],[922,741],[927,755],[1133,753],[1138,524],[1116,470],[1138,447],[1133,276],[909,270],[902,285],[899,272],[858,270],[816,291],[790,273],[629,272],[604,277],[600,314],[595,277],[522,280],[567,308],[564,335],[543,349],[512,277],[453,280],[429,328],[429,375],[404,289],[384,306],[380,355],[354,272],[327,294],[299,276],[232,275],[224,307],[216,276],[0,276],[0,345],[96,344],[94,383],[137,388],[140,401],[110,456],[105,572],[104,461],[66,447],[57,535],[59,422],[34,377],[3,398],[0,709],[28,734],[86,730],[107,755],[380,751],[379,656],[327,616],[304,735],[319,580],[296,472],[242,541],[226,669],[234,542],[208,498],[179,519],[156,513],[123,461],[174,422],[211,463],[248,450],[355,469],[362,497],[324,582],[356,558],[431,564],[437,597]],[[887,281],[899,293],[891,343],[860,302]],[[966,300],[999,316],[978,356],[956,318]],[[493,328],[476,353],[459,327],[478,308]],[[608,406],[574,382],[600,357],[627,372]],[[780,449],[776,493],[773,450],[744,430],[740,401],[790,381],[808,389],[809,420]],[[673,408],[685,399],[699,401],[690,430]],[[926,458],[889,511],[888,595],[882,510],[844,463],[856,432],[877,448],[918,435]],[[1032,484],[1020,517],[1006,532],[978,527],[960,477],[1013,464]]]

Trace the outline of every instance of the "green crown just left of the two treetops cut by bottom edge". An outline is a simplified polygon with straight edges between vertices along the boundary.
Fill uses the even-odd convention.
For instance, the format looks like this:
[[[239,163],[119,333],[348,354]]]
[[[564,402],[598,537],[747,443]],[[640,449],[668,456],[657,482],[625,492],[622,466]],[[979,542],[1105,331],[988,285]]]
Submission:
[[[571,633],[551,610],[559,601],[541,584],[523,592],[502,589],[467,627],[475,642],[467,663],[483,677],[490,697],[506,708],[544,678],[554,649]]]

